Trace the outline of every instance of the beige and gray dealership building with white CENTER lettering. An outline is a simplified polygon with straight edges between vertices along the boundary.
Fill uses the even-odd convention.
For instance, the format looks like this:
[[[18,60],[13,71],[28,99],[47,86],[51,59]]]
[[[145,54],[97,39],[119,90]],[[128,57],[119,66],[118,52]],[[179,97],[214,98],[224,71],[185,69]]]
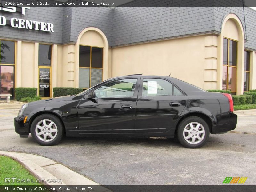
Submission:
[[[240,95],[256,89],[255,21],[249,7],[1,7],[0,94],[171,73]]]

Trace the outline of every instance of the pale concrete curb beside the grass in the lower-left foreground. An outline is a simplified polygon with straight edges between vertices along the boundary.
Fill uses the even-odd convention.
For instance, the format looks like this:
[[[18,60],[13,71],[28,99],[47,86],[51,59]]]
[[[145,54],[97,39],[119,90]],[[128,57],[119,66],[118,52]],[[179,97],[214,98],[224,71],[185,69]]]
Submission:
[[[37,179],[44,180],[44,185],[98,185],[92,180],[87,179],[83,175],[80,175],[62,164],[56,163],[45,157],[27,154],[0,151],[0,155],[11,157],[12,159],[20,162],[28,171],[34,175]],[[62,180],[61,183],[47,182],[48,179],[55,179],[56,181]],[[101,190],[102,189],[102,190]],[[100,187],[102,192],[111,192],[109,189]]]

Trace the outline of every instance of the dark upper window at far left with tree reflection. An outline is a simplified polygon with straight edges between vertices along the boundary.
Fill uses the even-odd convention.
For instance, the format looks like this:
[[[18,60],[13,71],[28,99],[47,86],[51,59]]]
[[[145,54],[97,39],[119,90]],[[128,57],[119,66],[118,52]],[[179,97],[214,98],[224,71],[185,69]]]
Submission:
[[[0,63],[15,64],[15,42],[0,41]]]

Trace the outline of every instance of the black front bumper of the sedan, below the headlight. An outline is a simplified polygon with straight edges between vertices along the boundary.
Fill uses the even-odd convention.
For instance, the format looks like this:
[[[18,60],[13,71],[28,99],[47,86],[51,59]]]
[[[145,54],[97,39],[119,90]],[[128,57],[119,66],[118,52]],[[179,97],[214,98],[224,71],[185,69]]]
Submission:
[[[24,119],[27,116],[27,120],[24,123]],[[30,119],[33,114],[18,116],[14,118],[15,132],[20,134],[20,137],[28,137],[30,133]]]

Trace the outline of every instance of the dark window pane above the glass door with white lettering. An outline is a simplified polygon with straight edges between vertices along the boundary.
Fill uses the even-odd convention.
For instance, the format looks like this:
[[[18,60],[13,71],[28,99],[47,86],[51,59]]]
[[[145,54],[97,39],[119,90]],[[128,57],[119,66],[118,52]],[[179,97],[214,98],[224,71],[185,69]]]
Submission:
[[[38,65],[51,66],[52,63],[52,45],[39,44]]]

